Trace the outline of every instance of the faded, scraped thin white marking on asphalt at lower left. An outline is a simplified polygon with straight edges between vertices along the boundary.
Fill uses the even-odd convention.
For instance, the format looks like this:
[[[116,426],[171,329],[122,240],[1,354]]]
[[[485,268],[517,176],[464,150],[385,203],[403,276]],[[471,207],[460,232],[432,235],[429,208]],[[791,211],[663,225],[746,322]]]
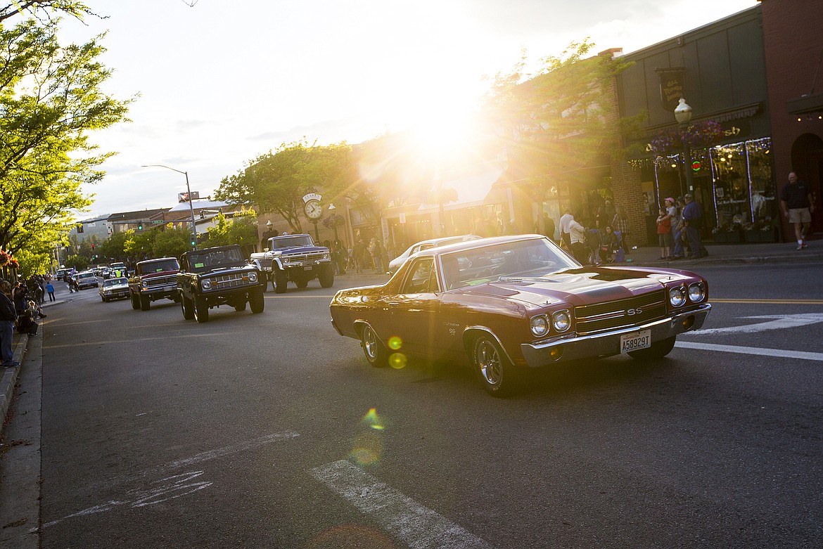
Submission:
[[[224,446],[222,448],[217,448],[216,450],[208,450],[206,452],[201,452],[200,454],[194,454],[193,456],[188,458],[175,459],[174,461],[168,464],[159,465],[157,467],[146,469],[145,471],[134,474],[130,477],[114,478],[113,480],[105,482],[105,486],[108,487],[123,484],[126,482],[135,482],[142,480],[144,477],[149,476],[167,475],[174,469],[189,467],[193,464],[199,464],[203,461],[208,461],[210,459],[217,459],[226,455],[235,454],[242,450],[253,450],[258,446],[265,445],[269,442],[277,441],[280,439],[290,439],[294,438],[295,436],[300,436],[300,434],[296,433],[295,431],[283,431],[279,433],[272,433],[270,435],[258,436],[257,438],[253,438],[250,441],[241,442],[236,445]],[[203,488],[212,486],[213,482],[211,481],[188,482],[189,480],[195,477],[199,477],[200,475],[202,475],[202,473],[202,471],[190,471],[188,473],[180,473],[170,477],[164,477],[159,481],[151,482],[151,484],[166,482],[165,485],[162,485],[159,488],[152,488],[151,490],[143,491],[128,491],[126,492],[126,495],[123,496],[123,498],[121,499],[106,501],[105,503],[102,503],[100,505],[94,505],[87,509],[77,511],[76,513],[69,514],[63,517],[62,519],[52,520],[51,522],[44,523],[42,528],[48,528],[49,526],[61,523],[63,522],[63,520],[66,519],[72,519],[73,517],[81,517],[86,516],[88,514],[102,513],[103,511],[113,509],[117,505],[131,505],[131,507],[143,507],[146,505],[160,503],[160,501],[166,501],[176,497],[186,496],[187,494],[190,494],[193,491],[202,490]],[[170,495],[165,496],[166,494]]]

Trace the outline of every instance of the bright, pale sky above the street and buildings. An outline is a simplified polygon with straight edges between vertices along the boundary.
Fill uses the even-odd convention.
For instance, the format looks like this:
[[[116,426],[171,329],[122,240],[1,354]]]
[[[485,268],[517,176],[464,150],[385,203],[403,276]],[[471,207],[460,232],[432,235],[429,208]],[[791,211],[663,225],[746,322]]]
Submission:
[[[91,219],[168,208],[283,143],[355,144],[421,127],[442,133],[490,78],[590,37],[634,52],[756,0],[86,0],[100,20],[65,20],[64,43],[101,33],[104,85],[135,97],[132,122],[91,134],[117,151]],[[453,122],[454,124],[458,122]]]

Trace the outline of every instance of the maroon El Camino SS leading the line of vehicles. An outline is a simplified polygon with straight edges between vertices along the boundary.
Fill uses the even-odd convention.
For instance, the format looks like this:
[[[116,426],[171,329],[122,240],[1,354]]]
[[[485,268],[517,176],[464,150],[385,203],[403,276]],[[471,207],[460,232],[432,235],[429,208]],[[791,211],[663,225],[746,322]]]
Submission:
[[[709,284],[686,270],[584,267],[542,235],[419,251],[386,284],[337,292],[338,334],[372,366],[407,354],[467,362],[490,394],[557,362],[661,358],[711,311]]]

